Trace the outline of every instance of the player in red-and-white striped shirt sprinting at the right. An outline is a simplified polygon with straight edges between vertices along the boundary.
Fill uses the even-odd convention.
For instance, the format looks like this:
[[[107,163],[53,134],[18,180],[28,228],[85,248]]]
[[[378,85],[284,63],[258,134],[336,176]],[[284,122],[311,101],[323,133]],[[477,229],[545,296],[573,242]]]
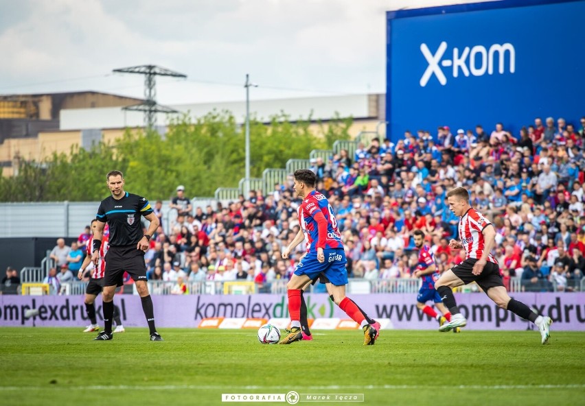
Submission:
[[[449,210],[459,221],[459,239],[452,239],[451,248],[464,248],[466,259],[444,272],[435,282],[435,289],[439,292],[444,305],[451,312],[451,320],[439,327],[439,331],[450,331],[456,327],[463,327],[467,320],[459,313],[457,302],[452,288],[475,282],[485,293],[502,309],[512,311],[521,318],[534,322],[540,330],[542,344],[549,342],[549,327],[551,318],[536,315],[523,302],[509,297],[500,274],[498,261],[492,255],[492,248],[496,243],[496,230],[490,220],[483,217],[479,211],[469,204],[469,192],[464,187],[457,187],[447,193]]]

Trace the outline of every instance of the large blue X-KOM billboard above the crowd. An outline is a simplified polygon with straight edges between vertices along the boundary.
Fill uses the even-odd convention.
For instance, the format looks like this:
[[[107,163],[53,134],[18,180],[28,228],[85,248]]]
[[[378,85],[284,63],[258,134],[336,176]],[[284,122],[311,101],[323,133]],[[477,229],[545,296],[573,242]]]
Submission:
[[[536,117],[580,128],[585,1],[492,1],[387,13],[387,134],[437,126],[518,136]]]

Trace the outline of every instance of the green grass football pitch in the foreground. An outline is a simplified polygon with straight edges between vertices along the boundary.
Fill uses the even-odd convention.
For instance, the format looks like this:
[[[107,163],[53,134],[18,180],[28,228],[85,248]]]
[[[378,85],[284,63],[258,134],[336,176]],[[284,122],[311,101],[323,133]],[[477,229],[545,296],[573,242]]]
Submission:
[[[367,405],[585,405],[585,333],[553,330],[542,346],[536,331],[382,331],[363,346],[358,331],[315,331],[279,346],[255,331],[163,329],[164,342],[80,331],[0,329],[0,405],[218,405],[290,390],[363,393]]]

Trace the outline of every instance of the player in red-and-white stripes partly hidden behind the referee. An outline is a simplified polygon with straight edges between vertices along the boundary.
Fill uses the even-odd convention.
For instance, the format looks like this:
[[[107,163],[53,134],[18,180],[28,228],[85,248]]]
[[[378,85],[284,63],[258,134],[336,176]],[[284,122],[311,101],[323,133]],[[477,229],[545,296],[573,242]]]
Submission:
[[[93,235],[93,230],[96,226],[95,222],[96,219],[91,221],[91,233]],[[91,261],[91,244],[93,239],[89,239],[85,242],[85,246],[87,248],[86,252],[87,255],[83,259],[83,263],[79,268],[79,272],[77,274],[78,278],[83,278],[85,272],[90,271],[91,274],[89,276],[89,283],[87,284],[87,288],[85,289],[85,311],[87,313],[87,317],[89,318],[91,324],[87,326],[84,333],[91,333],[92,331],[99,331],[100,327],[98,326],[98,320],[95,318],[95,298],[104,289],[104,272],[106,270],[106,253],[108,252],[108,240],[107,236],[104,235],[104,239],[102,241],[102,246],[100,248],[100,257],[98,259],[98,265],[93,265]],[[117,306],[114,306],[114,321],[116,322],[116,329],[115,333],[124,333],[124,326],[122,326],[122,320],[120,320],[120,312]]]

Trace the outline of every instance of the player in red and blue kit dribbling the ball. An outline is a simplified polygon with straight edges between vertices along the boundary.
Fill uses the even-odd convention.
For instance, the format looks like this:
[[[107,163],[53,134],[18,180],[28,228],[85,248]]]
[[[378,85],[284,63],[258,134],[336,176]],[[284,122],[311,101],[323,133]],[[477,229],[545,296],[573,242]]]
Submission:
[[[345,297],[347,270],[345,270],[345,250],[333,208],[327,198],[314,189],[315,174],[309,169],[295,171],[295,192],[303,202],[299,207],[299,222],[307,230],[309,248],[297,265],[295,273],[288,281],[288,311],[290,313],[290,333],[280,344],[290,344],[303,339],[301,332],[301,289],[310,280],[323,273],[332,284],[333,300],[364,332],[364,345],[376,342],[376,329],[368,324],[363,313],[352,300]]]

